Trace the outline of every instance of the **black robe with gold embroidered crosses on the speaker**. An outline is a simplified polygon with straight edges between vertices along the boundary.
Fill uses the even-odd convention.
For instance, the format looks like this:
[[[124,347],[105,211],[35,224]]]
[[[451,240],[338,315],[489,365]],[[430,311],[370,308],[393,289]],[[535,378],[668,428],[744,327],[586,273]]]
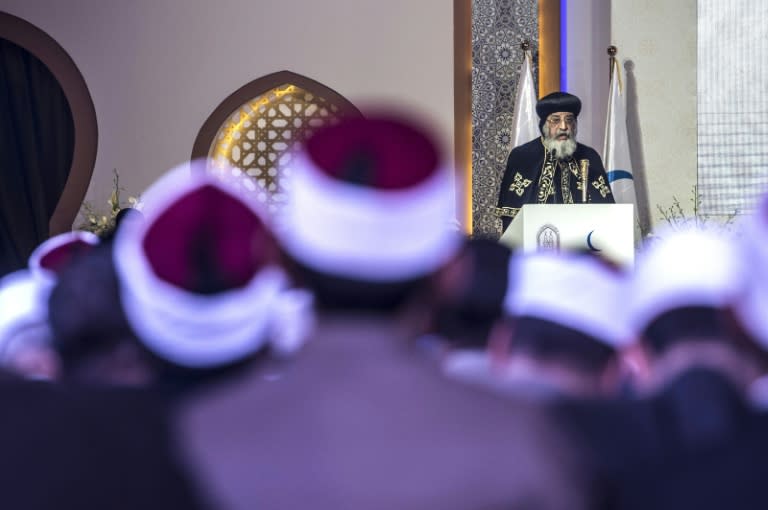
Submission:
[[[545,153],[542,139],[536,138],[509,153],[496,208],[502,230],[506,230],[523,204],[582,203],[581,160],[589,161],[587,203],[613,204],[608,176],[593,148],[577,143],[573,156],[558,161]]]

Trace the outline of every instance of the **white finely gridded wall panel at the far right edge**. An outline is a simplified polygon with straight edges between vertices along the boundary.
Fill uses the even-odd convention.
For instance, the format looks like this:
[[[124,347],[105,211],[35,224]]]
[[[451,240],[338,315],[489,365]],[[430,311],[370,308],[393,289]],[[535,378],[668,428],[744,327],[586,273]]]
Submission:
[[[698,0],[696,12],[700,212],[750,213],[768,183],[768,98],[755,86],[768,83],[768,4]]]

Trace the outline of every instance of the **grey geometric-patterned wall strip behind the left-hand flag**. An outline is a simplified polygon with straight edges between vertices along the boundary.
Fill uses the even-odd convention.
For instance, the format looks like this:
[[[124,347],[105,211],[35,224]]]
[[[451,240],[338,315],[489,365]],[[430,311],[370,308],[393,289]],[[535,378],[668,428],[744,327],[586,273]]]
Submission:
[[[472,2],[472,222],[475,237],[498,238],[494,214],[509,151],[520,45],[529,41],[538,76],[536,0]]]

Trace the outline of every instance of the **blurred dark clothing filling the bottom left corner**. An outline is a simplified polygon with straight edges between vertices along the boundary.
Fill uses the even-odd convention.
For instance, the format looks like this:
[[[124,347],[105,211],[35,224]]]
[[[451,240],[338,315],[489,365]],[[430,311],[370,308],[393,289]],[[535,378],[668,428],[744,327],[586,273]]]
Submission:
[[[3,508],[203,505],[155,392],[6,382],[0,401]]]

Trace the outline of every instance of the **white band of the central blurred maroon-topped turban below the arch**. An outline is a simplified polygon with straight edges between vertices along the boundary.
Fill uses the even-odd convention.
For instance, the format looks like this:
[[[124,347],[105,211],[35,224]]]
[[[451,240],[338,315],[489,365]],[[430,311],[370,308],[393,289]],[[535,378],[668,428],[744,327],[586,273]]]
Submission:
[[[323,272],[394,281],[431,272],[455,253],[452,177],[437,171],[414,188],[382,191],[334,179],[305,155],[291,165],[281,241]]]

